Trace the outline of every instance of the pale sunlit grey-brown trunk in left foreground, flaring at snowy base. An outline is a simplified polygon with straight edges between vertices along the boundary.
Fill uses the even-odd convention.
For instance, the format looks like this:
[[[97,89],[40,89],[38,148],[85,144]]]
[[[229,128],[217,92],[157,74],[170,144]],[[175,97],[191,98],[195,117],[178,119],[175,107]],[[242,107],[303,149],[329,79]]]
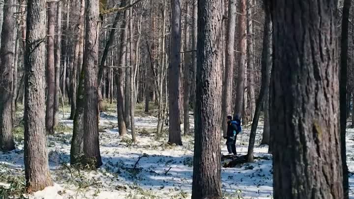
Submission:
[[[25,145],[26,187],[29,192],[52,186],[48,169],[45,129],[46,1],[27,1],[25,51]]]

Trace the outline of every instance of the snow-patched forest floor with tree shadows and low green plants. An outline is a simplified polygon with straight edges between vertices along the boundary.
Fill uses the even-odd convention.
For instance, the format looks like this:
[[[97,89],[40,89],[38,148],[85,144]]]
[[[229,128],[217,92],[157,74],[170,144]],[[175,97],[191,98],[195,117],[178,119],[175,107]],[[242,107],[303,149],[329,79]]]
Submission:
[[[193,144],[192,134],[183,135],[183,146],[167,144],[168,134],[157,138],[157,119],[144,114],[137,107],[135,125],[137,143],[128,135],[119,137],[115,106],[107,106],[100,114],[99,134],[103,166],[95,171],[77,170],[70,167],[70,142],[73,122],[60,119],[56,133],[48,136],[49,164],[53,187],[24,195],[25,173],[23,160],[23,124],[14,130],[17,148],[11,152],[0,152],[0,199],[189,199],[192,189]],[[65,107],[60,118],[69,117]],[[21,111],[18,113],[21,121]],[[193,115],[190,115],[193,132]],[[23,122],[22,122],[23,123]],[[183,126],[183,125],[182,125]],[[263,131],[263,120],[259,123],[256,137],[255,156],[263,157],[252,164],[236,168],[222,168],[222,190],[225,199],[272,199],[272,165],[267,146],[259,146]],[[245,155],[250,127],[243,129],[237,138],[237,153]],[[227,154],[224,141],[222,153]],[[348,166],[354,171],[354,129],[347,134]],[[140,159],[140,160],[139,160]],[[138,161],[139,160],[139,161]],[[137,163],[138,162],[138,163]],[[350,177],[354,185],[354,176]],[[354,191],[350,191],[354,199]]]

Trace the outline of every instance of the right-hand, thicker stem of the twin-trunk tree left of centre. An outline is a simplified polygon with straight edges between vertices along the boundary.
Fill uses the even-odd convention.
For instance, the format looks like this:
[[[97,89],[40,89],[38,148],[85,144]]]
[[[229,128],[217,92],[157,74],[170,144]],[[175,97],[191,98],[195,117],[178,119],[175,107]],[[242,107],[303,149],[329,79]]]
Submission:
[[[102,165],[98,139],[98,0],[86,0],[84,154],[86,163]]]

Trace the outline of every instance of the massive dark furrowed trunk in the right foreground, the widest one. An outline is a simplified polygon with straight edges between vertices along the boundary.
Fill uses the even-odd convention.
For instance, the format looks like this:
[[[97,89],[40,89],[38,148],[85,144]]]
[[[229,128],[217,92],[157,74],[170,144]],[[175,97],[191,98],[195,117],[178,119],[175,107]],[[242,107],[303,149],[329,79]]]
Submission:
[[[342,199],[336,0],[270,2],[274,199]]]

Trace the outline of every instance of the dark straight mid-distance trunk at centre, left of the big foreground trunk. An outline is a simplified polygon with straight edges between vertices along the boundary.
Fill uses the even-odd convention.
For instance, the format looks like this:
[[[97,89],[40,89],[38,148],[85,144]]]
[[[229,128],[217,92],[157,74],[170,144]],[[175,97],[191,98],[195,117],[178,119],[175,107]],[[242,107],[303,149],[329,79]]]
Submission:
[[[169,143],[182,144],[180,129],[180,49],[181,12],[180,0],[171,0],[171,46],[169,62]]]

